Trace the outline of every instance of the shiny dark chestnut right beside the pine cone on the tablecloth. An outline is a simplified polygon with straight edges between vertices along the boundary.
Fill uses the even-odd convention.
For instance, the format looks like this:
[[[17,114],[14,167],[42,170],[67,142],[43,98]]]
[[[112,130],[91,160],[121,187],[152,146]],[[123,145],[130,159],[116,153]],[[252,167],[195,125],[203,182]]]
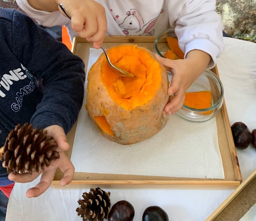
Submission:
[[[134,214],[135,210],[132,204],[126,200],[120,200],[112,206],[108,214],[108,221],[132,221]]]

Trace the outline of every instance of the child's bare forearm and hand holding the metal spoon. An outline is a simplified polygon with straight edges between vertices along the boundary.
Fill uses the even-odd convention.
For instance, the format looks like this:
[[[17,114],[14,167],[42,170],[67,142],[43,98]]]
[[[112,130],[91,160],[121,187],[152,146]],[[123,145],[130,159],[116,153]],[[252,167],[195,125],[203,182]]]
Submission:
[[[107,30],[105,9],[94,0],[18,0],[17,3],[21,8],[23,4],[29,4],[34,9],[48,12],[59,11],[58,3],[62,3],[71,17],[72,29],[80,37],[93,42],[95,48],[99,48],[104,40]],[[60,12],[66,16],[62,10]]]

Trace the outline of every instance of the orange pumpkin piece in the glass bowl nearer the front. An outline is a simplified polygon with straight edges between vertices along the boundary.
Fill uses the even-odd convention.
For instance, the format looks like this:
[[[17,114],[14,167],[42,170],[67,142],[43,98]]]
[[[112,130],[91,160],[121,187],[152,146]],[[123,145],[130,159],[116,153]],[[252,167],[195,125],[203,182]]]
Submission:
[[[195,109],[206,109],[212,106],[212,91],[198,91],[185,93],[184,104],[187,107]],[[206,111],[203,114],[210,114],[212,111]]]

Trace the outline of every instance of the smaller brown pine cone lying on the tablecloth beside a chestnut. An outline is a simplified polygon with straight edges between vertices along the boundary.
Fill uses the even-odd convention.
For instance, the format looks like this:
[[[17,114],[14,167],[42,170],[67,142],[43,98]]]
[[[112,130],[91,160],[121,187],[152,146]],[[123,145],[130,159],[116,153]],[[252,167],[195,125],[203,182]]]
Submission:
[[[79,199],[80,205],[75,211],[81,215],[83,221],[103,221],[108,218],[110,211],[110,192],[106,193],[101,188],[90,188],[89,193],[83,193],[84,200]]]

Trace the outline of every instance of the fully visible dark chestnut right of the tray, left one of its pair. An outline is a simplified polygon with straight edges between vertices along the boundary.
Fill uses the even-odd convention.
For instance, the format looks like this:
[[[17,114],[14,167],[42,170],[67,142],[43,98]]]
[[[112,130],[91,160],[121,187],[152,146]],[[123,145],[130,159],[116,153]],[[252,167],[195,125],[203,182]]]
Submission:
[[[234,122],[231,130],[236,147],[246,149],[251,144],[252,133],[243,122]]]

